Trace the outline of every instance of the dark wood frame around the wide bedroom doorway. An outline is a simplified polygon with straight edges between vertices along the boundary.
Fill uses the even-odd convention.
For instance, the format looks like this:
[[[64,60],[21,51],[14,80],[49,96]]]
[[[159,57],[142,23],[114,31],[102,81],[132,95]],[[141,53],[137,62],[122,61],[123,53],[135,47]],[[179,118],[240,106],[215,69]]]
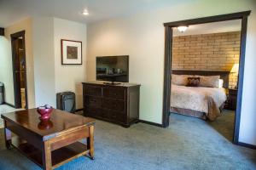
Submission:
[[[235,144],[240,144],[239,139],[239,128],[241,119],[241,98],[243,88],[243,74],[244,74],[244,62],[245,62],[245,49],[246,49],[246,38],[247,38],[247,16],[251,11],[245,11],[233,14],[222,14],[216,16],[210,16],[205,18],[193,19],[193,20],[180,20],[175,22],[165,23],[166,28],[165,35],[165,71],[164,71],[164,97],[163,97],[163,115],[162,115],[162,126],[169,126],[169,111],[171,105],[171,88],[172,88],[172,41],[173,41],[173,28],[177,26],[191,26],[204,23],[212,23],[224,20],[241,20],[241,47],[240,47],[240,59],[239,59],[239,77],[238,77],[238,92],[237,92],[237,104],[236,104],[236,120],[234,127],[234,138]]]

